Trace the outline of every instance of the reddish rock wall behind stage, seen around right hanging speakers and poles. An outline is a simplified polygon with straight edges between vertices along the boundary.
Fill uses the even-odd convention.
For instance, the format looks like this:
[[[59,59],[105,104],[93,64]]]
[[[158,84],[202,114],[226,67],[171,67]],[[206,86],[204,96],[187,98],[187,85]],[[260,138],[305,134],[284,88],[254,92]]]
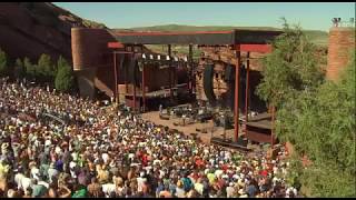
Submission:
[[[233,74],[233,86],[228,83],[225,79],[227,78],[227,66],[231,66],[235,68],[236,64],[236,56],[235,51],[228,47],[220,47],[218,49],[211,47],[201,47],[204,51],[204,57],[199,60],[196,73],[196,94],[197,100],[207,101],[207,97],[204,91],[204,69],[205,63],[214,62],[214,81],[212,88],[216,97],[221,98],[224,104],[229,108],[234,108],[234,99],[235,99],[235,70]],[[250,52],[250,77],[249,77],[249,107],[254,111],[264,112],[267,110],[266,103],[259,99],[256,94],[256,87],[259,84],[263,70],[263,63],[260,58],[265,57],[265,53],[259,52]],[[245,90],[246,90],[246,81],[245,81],[245,66],[247,64],[247,52],[241,52],[241,64],[244,67],[240,68],[240,88],[239,88],[239,108],[240,110],[245,110]],[[245,70],[246,71],[246,70]],[[229,91],[233,91],[229,93]]]

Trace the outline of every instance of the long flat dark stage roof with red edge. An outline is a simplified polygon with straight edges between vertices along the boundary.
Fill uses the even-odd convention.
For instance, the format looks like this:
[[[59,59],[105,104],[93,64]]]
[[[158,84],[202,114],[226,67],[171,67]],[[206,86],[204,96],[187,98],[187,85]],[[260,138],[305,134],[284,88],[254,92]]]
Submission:
[[[138,32],[115,31],[112,36],[123,44],[266,44],[281,31],[231,30],[231,31],[195,31],[195,32]]]

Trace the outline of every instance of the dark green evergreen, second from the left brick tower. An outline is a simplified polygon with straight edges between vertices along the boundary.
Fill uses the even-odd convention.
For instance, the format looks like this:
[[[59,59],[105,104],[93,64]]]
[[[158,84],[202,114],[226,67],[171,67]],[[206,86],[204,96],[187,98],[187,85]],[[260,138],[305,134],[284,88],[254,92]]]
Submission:
[[[53,81],[55,74],[51,57],[42,53],[37,63],[37,78],[44,82],[51,82]]]

